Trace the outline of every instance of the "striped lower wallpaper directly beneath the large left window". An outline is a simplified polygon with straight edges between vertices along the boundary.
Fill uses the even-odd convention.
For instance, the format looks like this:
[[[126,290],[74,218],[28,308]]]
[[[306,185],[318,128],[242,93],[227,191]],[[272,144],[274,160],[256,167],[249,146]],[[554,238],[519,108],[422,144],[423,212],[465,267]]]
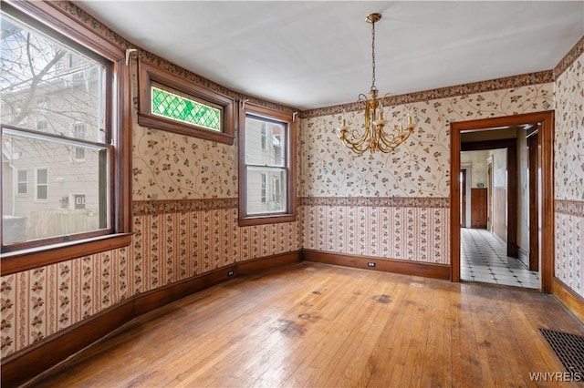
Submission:
[[[131,248],[3,276],[2,357],[133,295]]]

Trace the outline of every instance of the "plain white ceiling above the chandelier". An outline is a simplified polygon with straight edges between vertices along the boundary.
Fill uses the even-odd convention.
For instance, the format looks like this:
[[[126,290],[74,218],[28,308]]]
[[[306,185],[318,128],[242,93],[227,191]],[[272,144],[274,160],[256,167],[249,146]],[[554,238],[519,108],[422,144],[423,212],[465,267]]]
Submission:
[[[76,1],[134,44],[237,92],[300,109],[552,69],[584,2]]]

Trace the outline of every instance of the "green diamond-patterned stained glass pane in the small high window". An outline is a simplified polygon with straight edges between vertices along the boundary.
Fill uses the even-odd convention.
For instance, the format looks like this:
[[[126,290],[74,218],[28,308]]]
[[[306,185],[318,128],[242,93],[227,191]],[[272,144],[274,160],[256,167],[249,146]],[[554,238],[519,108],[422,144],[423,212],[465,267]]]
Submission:
[[[221,109],[151,87],[151,113],[198,127],[221,131]]]

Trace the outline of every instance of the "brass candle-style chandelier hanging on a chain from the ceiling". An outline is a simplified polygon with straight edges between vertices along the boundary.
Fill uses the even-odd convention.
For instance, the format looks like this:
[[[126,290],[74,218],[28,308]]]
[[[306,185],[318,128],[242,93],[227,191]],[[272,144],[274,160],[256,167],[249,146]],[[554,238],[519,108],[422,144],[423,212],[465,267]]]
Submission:
[[[370,99],[364,94],[360,94],[358,103],[364,105],[365,115],[365,129],[351,129],[347,126],[347,120],[343,115],[343,125],[337,128],[338,136],[345,147],[352,149],[357,154],[361,155],[368,149],[371,153],[381,151],[383,153],[390,153],[397,148],[407,138],[410,137],[413,131],[412,116],[408,114],[407,124],[399,123],[393,127],[391,131],[386,130],[389,121],[383,118],[383,102],[391,97],[391,93],[387,93],[383,97],[378,97],[379,91],[375,87],[375,23],[379,22],[381,14],[370,14],[365,20],[371,24],[371,58],[372,58],[372,77],[370,88]]]

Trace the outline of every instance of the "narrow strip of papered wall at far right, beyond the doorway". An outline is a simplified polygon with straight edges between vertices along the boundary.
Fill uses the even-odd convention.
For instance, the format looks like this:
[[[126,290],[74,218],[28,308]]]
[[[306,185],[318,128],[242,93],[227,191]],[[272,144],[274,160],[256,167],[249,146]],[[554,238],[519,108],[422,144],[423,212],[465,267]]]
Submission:
[[[556,96],[554,271],[560,281],[584,298],[583,53],[584,37],[560,62],[560,66],[563,64],[566,66],[556,70],[558,76],[554,87]]]

